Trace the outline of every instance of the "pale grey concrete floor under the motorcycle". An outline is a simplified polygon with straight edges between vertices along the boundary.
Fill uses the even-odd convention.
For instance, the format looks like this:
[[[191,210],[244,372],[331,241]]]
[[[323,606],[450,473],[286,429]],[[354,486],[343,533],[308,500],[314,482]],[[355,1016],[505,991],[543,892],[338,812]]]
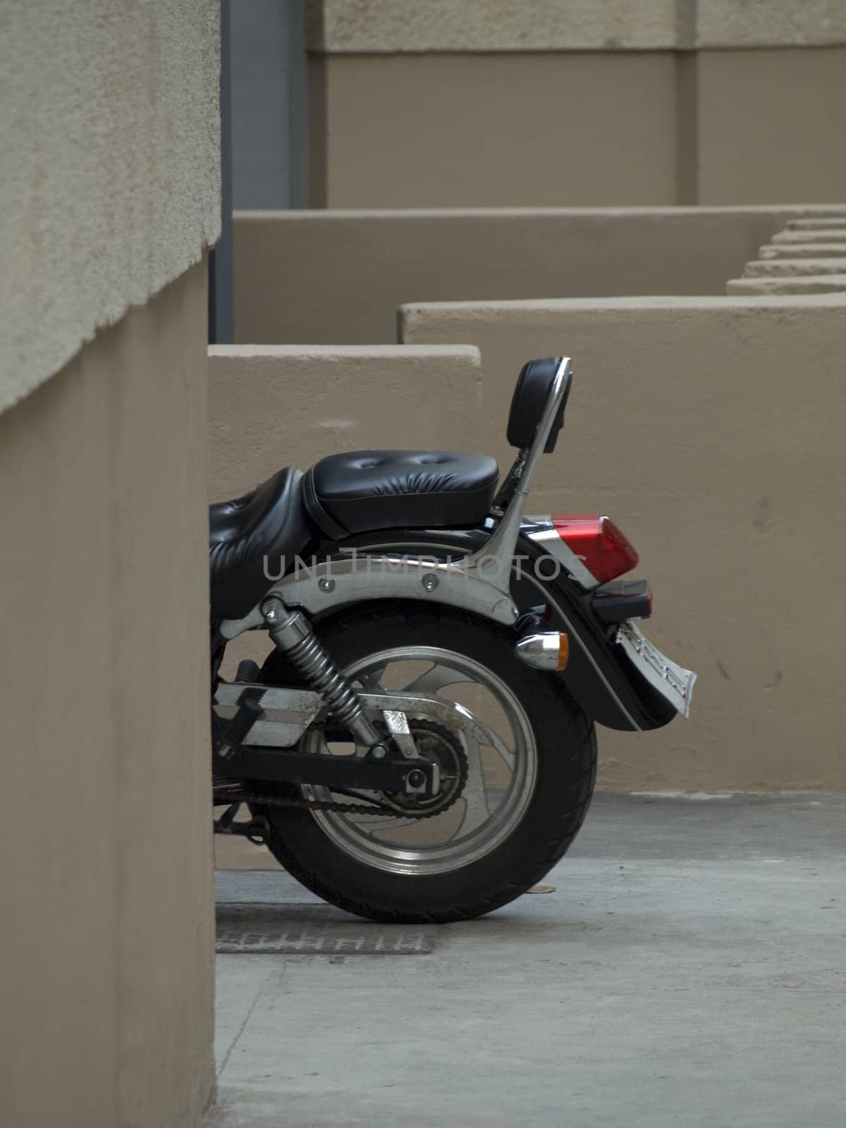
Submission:
[[[846,796],[598,795],[553,893],[431,954],[221,955],[214,1128],[843,1128],[845,846]]]

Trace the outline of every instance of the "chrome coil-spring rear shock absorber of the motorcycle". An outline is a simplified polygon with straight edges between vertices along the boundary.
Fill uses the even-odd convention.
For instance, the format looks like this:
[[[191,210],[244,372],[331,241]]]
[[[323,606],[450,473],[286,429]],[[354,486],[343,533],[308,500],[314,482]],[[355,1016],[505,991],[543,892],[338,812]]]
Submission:
[[[379,733],[365,716],[350,680],[315,636],[308,618],[302,611],[289,610],[281,599],[266,600],[262,615],[276,650],[282,651],[320,694],[332,716],[365,743],[371,756],[381,759],[386,748]]]

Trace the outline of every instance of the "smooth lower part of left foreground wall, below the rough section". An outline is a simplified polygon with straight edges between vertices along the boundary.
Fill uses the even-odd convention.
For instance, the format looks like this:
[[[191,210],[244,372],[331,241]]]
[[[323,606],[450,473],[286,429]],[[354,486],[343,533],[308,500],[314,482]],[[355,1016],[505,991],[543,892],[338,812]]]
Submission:
[[[0,415],[0,1120],[213,1094],[200,263]]]

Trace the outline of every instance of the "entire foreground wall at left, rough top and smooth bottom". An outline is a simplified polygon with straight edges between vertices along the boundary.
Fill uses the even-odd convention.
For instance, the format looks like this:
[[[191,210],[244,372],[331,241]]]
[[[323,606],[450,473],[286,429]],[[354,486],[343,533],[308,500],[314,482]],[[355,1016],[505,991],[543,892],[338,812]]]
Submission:
[[[220,3],[1,7],[0,1120],[192,1128]]]

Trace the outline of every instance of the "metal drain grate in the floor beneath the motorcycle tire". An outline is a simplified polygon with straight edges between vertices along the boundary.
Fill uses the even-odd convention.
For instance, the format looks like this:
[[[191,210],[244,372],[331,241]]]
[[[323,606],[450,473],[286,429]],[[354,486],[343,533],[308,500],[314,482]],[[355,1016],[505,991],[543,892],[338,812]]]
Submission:
[[[434,944],[432,929],[368,924],[329,906],[218,906],[222,955],[421,955]]]

